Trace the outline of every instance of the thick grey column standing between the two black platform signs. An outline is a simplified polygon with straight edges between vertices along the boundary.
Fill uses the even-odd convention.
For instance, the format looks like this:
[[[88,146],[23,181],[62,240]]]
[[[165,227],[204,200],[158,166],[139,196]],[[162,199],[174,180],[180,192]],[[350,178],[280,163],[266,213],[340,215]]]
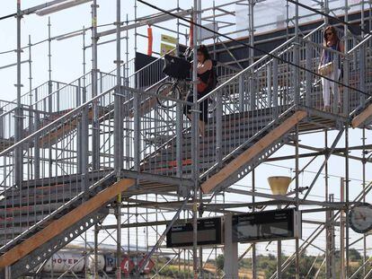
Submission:
[[[225,215],[225,278],[238,278],[238,244],[233,242],[233,215]]]

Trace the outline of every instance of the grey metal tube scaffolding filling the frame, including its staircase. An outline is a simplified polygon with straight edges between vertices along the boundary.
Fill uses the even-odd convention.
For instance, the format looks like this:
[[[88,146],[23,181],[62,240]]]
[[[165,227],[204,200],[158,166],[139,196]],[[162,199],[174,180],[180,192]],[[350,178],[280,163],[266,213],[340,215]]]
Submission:
[[[238,263],[250,257],[252,266],[244,267],[256,279],[262,276],[258,255],[266,248],[277,255],[270,278],[282,278],[293,266],[300,278],[301,257],[309,248],[323,253],[311,268],[319,266],[316,276],[325,268],[326,278],[369,278],[369,234],[351,231],[349,213],[369,201],[372,188],[372,1],[312,1],[306,10],[305,2],[283,0],[285,18],[257,24],[256,9],[269,0],[213,1],[207,7],[194,0],[187,8],[174,0],[174,8],[150,15],[141,14],[141,8],[148,8],[144,1],[133,0],[134,17],[125,19],[126,2],[117,0],[115,22],[102,25],[99,2],[54,0],[22,10],[18,1],[17,13],[9,15],[16,18],[17,59],[0,70],[16,67],[17,99],[0,103],[0,278],[155,278],[167,266],[188,278],[238,278],[243,277],[237,274]],[[91,4],[92,26],[52,37],[49,18],[49,37],[32,43],[30,36],[22,46],[23,17],[86,3]],[[241,6],[248,20],[243,27],[235,23],[235,8]],[[195,22],[193,36],[190,22]],[[308,22],[316,28],[302,28]],[[341,65],[342,76],[328,78],[336,85],[331,109],[324,111],[316,68],[325,49],[323,29],[330,22],[345,51],[328,50],[336,61],[334,71]],[[154,52],[151,63],[136,65],[148,25],[174,36],[177,50],[192,38],[194,60],[197,46],[208,45],[218,61],[217,88],[201,98],[194,94],[192,101],[159,95],[162,84],[172,82],[161,72],[164,56]],[[200,26],[209,26],[209,35]],[[272,28],[285,35],[275,48],[261,49],[270,43],[262,36]],[[52,43],[76,36],[83,42],[83,75],[72,83],[54,81]],[[48,45],[49,80],[34,87],[32,49],[40,44]],[[99,67],[99,48],[106,44],[116,48],[115,68],[108,73]],[[22,94],[24,64],[29,90]],[[197,92],[197,83],[188,86]],[[187,107],[190,118],[184,115]],[[204,136],[199,136],[200,115],[207,116]],[[289,173],[294,186],[288,195],[272,195],[269,187],[258,185],[261,176],[269,176],[267,170]],[[232,214],[280,206],[302,212],[301,239],[242,244],[238,250],[197,245],[199,218],[229,220]],[[193,224],[193,246],[166,248],[166,233],[185,220]],[[362,265],[353,273],[351,248],[362,254]],[[64,251],[82,257],[59,272],[50,258]],[[118,259],[114,274],[100,267],[103,253]],[[225,272],[210,264],[224,253]],[[136,266],[132,275],[121,265],[129,255]],[[155,269],[146,275],[150,261]],[[74,271],[81,262],[83,269]]]

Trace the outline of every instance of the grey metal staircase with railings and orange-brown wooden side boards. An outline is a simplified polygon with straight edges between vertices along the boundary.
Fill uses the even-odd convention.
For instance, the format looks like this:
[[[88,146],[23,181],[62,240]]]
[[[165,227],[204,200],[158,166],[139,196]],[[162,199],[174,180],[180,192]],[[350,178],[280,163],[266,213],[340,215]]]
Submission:
[[[324,112],[314,74],[286,62],[316,68],[322,28],[302,39],[289,39],[271,51],[279,58],[261,57],[238,74],[219,65],[217,89],[196,104],[173,100],[174,108],[164,109],[154,101],[167,98],[155,94],[166,77],[154,81],[151,74],[160,60],[126,75],[120,87],[115,86],[115,76],[107,74],[112,81],[103,82],[102,77],[102,91],[95,97],[89,94],[91,85],[84,86],[78,79],[70,93],[71,103],[62,106],[60,92],[32,103],[32,118],[25,120],[30,132],[0,152],[4,161],[0,166],[4,174],[0,184],[0,269],[11,266],[14,277],[29,273],[101,222],[121,193],[188,193],[194,183],[195,161],[201,189],[211,193],[242,179],[291,141],[295,127],[301,132],[349,125],[350,116],[358,114],[350,112],[366,109],[367,100],[359,92],[344,89],[342,108],[338,109],[334,98],[332,111]],[[368,45],[370,39],[353,46],[346,58],[365,55],[370,61],[370,51],[364,52]],[[350,86],[370,92],[368,64],[344,61],[349,63],[350,76],[365,77],[352,80]],[[154,84],[136,88],[140,74]],[[210,106],[203,111],[206,101]],[[54,104],[58,109],[51,109]],[[208,115],[205,136],[191,135],[190,120],[183,115],[185,105]],[[14,113],[11,110],[5,113]],[[60,115],[49,119],[50,112]],[[93,138],[99,148],[94,148]],[[22,170],[21,178],[13,174],[14,164]]]

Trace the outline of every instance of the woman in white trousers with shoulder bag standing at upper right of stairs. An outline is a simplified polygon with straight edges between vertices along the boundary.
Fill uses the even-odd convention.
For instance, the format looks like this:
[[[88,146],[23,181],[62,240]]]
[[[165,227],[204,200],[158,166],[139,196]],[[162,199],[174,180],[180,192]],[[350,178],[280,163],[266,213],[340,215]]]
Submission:
[[[339,51],[339,52],[344,52],[344,47],[337,36],[337,32],[333,26],[328,26],[324,30],[324,43],[323,46],[325,48],[331,48],[333,50]],[[335,60],[335,53],[332,51],[324,50],[322,53],[321,61],[319,68],[322,65],[329,64]],[[333,66],[333,65],[332,65]],[[338,81],[341,77],[341,59],[339,57],[339,65],[337,65],[336,71],[330,71],[329,74],[325,75],[326,77]],[[324,110],[325,111],[331,111],[331,89],[332,92],[334,93],[334,86],[335,83],[332,83],[331,81],[325,79],[322,77],[322,85],[323,85],[323,102],[324,102]],[[340,96],[339,96],[339,107],[340,107]]]

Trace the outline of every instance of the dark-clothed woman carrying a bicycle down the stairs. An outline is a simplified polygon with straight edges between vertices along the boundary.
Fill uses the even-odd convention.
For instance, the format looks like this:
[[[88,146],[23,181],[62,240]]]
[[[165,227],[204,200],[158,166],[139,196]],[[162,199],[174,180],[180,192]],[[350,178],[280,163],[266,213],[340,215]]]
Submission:
[[[204,45],[201,45],[198,48],[197,52],[198,56],[198,65],[197,65],[197,72],[198,72],[198,100],[208,92],[211,92],[214,88],[214,74],[213,74],[213,62],[209,56],[208,48]],[[194,96],[193,93],[189,94],[188,101],[193,102]],[[191,119],[191,107],[187,106],[185,108],[185,114],[189,119]],[[208,99],[203,100],[199,104],[199,110],[201,113],[199,114],[199,133],[200,135],[205,135],[206,130],[206,123],[208,122]]]

